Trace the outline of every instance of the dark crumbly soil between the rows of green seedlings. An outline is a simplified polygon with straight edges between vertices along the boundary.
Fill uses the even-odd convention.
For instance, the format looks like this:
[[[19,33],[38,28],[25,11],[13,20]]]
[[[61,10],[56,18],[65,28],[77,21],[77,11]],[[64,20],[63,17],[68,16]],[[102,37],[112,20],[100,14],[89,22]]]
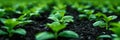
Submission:
[[[51,29],[46,27],[46,23],[51,23],[52,20],[49,20],[47,17],[50,15],[52,9],[46,10],[44,13],[41,13],[41,16],[39,17],[31,17],[30,19],[33,20],[33,22],[25,25],[24,27],[18,25],[17,28],[23,28],[27,31],[27,34],[25,36],[15,34],[13,37],[9,38],[6,36],[0,36],[0,40],[35,40],[35,34],[39,32],[52,32]],[[71,30],[79,34],[79,38],[71,39],[71,38],[63,38],[58,37],[58,40],[97,40],[96,38],[99,35],[103,34],[112,34],[111,31],[106,30],[105,28],[99,28],[99,27],[93,27],[93,23],[95,21],[89,21],[88,19],[82,19],[79,20],[79,12],[71,7],[67,7],[66,9],[67,14],[74,17],[74,22],[69,23],[67,25],[67,28],[64,30]],[[116,21],[118,21],[117,19]],[[1,24],[1,23],[0,23]],[[2,28],[1,28],[2,29]],[[2,29],[5,30],[5,29]],[[63,31],[63,30],[61,30]],[[54,39],[51,39],[54,40]],[[109,38],[106,39],[100,39],[100,40],[111,40]]]

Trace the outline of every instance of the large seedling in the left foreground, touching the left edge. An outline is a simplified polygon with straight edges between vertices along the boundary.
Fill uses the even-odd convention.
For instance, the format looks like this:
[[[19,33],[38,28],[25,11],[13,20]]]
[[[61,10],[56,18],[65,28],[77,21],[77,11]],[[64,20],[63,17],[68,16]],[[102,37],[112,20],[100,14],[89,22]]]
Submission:
[[[14,30],[14,27],[21,23],[20,21],[17,21],[17,19],[14,19],[14,18],[13,19],[1,19],[1,21],[5,25],[5,26],[2,26],[2,28],[5,28],[7,30],[7,32],[0,30],[0,35],[7,35],[8,34],[9,37],[11,37],[11,36],[13,36],[14,33],[17,33],[20,35],[26,34],[26,31],[22,28],[18,28],[16,30]]]

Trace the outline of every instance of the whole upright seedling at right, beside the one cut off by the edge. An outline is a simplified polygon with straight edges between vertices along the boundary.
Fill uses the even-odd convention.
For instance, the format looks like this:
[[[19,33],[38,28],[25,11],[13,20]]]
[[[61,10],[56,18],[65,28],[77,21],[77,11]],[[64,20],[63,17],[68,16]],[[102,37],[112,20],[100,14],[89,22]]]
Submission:
[[[93,26],[103,26],[103,27],[106,27],[106,29],[108,30],[108,28],[109,28],[109,22],[111,21],[111,20],[114,20],[114,19],[116,19],[117,18],[117,16],[115,16],[115,15],[111,15],[111,16],[106,16],[105,14],[102,14],[102,13],[97,13],[97,14],[95,14],[96,16],[97,16],[97,18],[98,18],[98,20],[104,20],[104,21],[96,21],[95,23],[93,23]],[[103,17],[103,18],[102,18]]]

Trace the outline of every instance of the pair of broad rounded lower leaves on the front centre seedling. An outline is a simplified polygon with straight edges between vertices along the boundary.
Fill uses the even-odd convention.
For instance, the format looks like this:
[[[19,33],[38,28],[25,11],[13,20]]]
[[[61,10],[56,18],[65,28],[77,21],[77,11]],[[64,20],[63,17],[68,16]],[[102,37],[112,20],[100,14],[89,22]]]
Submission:
[[[69,30],[62,31],[59,34],[57,34],[57,36],[67,37],[67,38],[78,38],[79,37],[77,33],[73,31],[69,31]],[[36,40],[48,40],[51,38],[56,38],[56,35],[50,32],[42,32],[42,33],[38,33],[35,37],[36,37]]]

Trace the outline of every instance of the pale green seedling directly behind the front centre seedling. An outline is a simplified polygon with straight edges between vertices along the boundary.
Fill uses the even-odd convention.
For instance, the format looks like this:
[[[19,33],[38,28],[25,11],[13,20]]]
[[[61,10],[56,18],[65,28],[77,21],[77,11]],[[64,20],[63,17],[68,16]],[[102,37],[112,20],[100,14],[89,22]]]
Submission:
[[[52,13],[48,18],[55,21],[55,22],[73,22],[72,16],[64,16],[65,12],[63,11],[57,11],[56,13]]]

